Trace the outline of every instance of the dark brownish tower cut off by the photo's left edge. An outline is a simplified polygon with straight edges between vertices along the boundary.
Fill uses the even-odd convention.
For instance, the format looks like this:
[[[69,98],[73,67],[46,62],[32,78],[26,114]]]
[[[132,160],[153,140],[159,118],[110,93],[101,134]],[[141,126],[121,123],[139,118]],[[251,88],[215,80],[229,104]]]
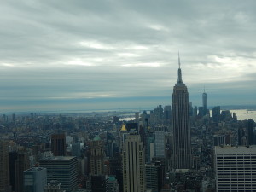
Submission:
[[[9,191],[9,144],[0,140],[0,192]]]

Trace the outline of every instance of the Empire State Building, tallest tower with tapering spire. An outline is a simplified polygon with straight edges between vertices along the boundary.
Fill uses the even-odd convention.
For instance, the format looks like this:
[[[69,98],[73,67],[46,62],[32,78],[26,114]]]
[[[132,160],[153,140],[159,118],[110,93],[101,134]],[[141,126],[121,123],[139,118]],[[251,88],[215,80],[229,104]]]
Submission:
[[[189,92],[183,83],[180,59],[178,55],[177,83],[172,94],[173,122],[173,153],[174,169],[190,169],[192,167],[190,123],[189,123]]]

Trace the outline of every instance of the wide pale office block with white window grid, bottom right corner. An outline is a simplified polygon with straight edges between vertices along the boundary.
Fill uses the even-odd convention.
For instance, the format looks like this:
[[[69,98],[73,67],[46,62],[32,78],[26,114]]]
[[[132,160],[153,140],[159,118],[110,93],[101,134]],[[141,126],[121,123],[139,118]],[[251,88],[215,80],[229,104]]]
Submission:
[[[214,148],[216,191],[256,191],[256,148]]]

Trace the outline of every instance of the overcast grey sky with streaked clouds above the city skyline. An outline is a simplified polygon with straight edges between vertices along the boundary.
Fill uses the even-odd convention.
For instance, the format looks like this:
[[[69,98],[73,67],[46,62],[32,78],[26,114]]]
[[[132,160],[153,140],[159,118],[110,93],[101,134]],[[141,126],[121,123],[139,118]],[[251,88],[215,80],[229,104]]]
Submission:
[[[1,1],[0,113],[256,104],[254,0]]]

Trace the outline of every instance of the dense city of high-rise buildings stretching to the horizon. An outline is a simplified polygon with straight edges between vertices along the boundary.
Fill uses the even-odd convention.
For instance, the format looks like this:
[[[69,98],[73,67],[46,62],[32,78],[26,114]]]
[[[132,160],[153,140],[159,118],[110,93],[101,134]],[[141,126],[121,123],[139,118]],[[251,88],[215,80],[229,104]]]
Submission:
[[[193,106],[178,63],[172,106],[3,114],[0,192],[253,191],[255,119]]]

